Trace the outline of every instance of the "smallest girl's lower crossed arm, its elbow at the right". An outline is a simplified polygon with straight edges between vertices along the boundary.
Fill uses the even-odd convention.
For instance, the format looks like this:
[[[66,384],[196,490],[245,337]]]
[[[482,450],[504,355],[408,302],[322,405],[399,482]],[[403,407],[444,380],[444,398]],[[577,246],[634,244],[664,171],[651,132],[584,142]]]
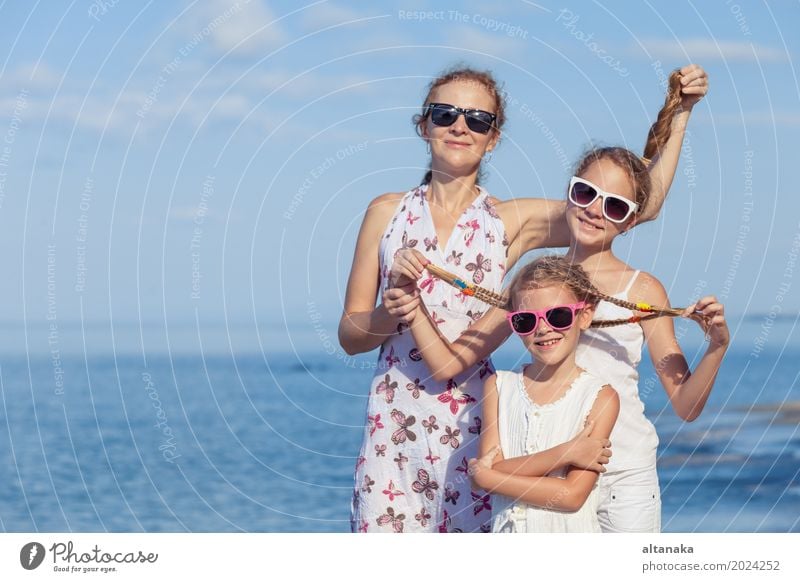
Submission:
[[[595,434],[608,438],[618,414],[619,396],[613,388],[605,386],[597,394],[589,413],[589,419],[596,424]],[[490,444],[491,437],[487,440],[487,446]],[[484,452],[483,438],[481,452]],[[518,499],[529,505],[570,512],[578,511],[583,506],[597,481],[596,472],[574,467],[569,470],[565,479],[509,475],[495,468],[487,468],[477,461],[470,463],[470,470],[474,483],[486,491]]]

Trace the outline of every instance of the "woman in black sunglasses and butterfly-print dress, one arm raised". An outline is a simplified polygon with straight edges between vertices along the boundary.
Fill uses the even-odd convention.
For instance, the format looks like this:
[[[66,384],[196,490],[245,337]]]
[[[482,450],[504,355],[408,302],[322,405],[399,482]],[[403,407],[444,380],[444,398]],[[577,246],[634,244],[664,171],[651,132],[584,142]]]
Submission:
[[[654,195],[640,220],[661,207],[691,105],[705,93],[702,69],[684,71],[686,108],[671,120],[675,131],[651,165]],[[347,353],[381,346],[356,462],[354,531],[488,529],[488,496],[470,489],[466,465],[477,450],[481,382],[491,363],[479,358],[432,381],[406,329],[424,302],[441,333],[455,340],[484,308],[433,279],[401,297],[389,278],[399,251],[419,249],[499,288],[523,253],[569,242],[563,203],[498,202],[477,185],[481,159],[496,147],[504,119],[502,96],[488,73],[459,69],[435,79],[415,118],[430,148],[431,171],[420,187],[373,200],[364,217],[339,325]],[[379,291],[384,301],[376,307]]]

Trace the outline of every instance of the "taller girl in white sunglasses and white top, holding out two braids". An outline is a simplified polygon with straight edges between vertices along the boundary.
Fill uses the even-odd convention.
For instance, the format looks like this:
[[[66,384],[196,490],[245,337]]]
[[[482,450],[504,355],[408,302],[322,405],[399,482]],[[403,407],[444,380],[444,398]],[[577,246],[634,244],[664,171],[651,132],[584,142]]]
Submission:
[[[590,151],[570,181],[567,258],[582,266],[603,294],[605,300],[596,310],[600,319],[633,317],[628,299],[669,306],[661,283],[626,265],[611,248],[614,239],[638,221],[638,212],[647,204],[650,185],[646,164],[623,148]],[[396,258],[393,270],[398,279],[416,278],[424,272],[426,262],[413,252],[403,252]],[[389,312],[401,314],[409,304],[409,294],[413,297],[418,291],[394,289],[392,301],[386,302]],[[657,532],[661,528],[656,473],[658,437],[644,415],[638,393],[637,366],[644,341],[648,342],[650,357],[673,409],[687,421],[702,412],[722,364],[730,341],[723,306],[708,296],[686,308],[683,315],[700,324],[709,342],[694,371],[689,369],[669,318],[642,317],[641,321],[626,325],[588,331],[580,340],[578,365],[608,378],[620,396],[619,419],[611,438],[614,456],[600,491],[598,517],[604,532]],[[452,377],[486,358],[510,333],[500,309],[490,310],[452,344],[439,335],[422,307],[417,306],[406,317],[412,322],[414,338],[434,378]]]

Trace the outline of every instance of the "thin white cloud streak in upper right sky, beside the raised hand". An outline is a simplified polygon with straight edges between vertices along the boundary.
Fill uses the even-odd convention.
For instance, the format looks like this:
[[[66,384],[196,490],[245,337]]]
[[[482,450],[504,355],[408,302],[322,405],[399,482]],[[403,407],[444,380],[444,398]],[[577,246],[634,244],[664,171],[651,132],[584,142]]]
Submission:
[[[665,61],[691,61],[694,63],[711,60],[739,62],[774,62],[786,61],[788,55],[777,48],[744,41],[716,40],[713,38],[689,39],[647,39],[642,44],[652,58]],[[641,56],[641,48],[636,45],[631,49]]]

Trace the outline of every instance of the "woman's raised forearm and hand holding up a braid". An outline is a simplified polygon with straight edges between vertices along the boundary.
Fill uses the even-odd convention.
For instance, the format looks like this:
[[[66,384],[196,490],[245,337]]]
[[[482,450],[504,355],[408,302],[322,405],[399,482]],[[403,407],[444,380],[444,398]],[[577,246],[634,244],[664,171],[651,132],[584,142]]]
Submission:
[[[645,147],[645,157],[651,156],[648,172],[651,190],[647,206],[639,213],[637,223],[654,220],[661,212],[661,207],[664,205],[670,186],[672,186],[675,170],[678,168],[678,159],[681,155],[683,138],[686,135],[686,126],[689,123],[692,108],[708,93],[708,75],[700,65],[687,65],[680,70],[680,79],[676,81],[674,91],[676,102],[678,95],[680,96],[679,107],[677,109],[670,107],[670,94],[668,94],[667,103],[661,110],[658,121],[653,124],[651,129],[651,135],[652,131],[656,130],[662,134],[668,132],[669,137],[663,144],[656,144],[651,143],[651,135],[648,136],[649,147]],[[668,115],[670,118],[662,120],[662,114]],[[662,123],[665,124],[664,130],[666,131],[659,128]]]

